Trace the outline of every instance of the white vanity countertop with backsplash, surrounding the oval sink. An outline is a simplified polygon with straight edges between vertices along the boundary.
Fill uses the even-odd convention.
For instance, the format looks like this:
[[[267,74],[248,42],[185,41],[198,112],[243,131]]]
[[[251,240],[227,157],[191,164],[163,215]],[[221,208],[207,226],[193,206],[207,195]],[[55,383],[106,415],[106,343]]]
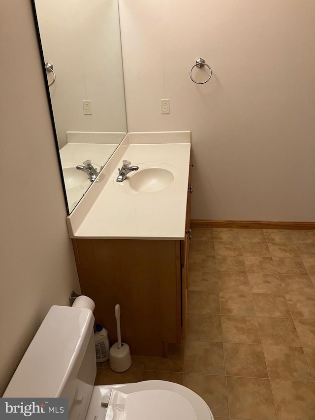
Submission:
[[[175,166],[179,176],[164,190],[130,194],[121,188],[123,183],[115,185],[117,168],[124,159],[131,165]],[[70,237],[184,239],[189,159],[190,131],[127,134],[99,175],[99,181],[94,182],[67,217]]]

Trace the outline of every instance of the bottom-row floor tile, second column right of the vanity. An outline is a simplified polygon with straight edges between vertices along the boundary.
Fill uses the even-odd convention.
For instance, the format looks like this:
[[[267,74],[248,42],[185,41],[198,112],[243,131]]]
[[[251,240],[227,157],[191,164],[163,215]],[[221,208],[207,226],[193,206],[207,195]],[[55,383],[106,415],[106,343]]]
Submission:
[[[277,420],[268,379],[227,377],[230,416],[244,419]]]

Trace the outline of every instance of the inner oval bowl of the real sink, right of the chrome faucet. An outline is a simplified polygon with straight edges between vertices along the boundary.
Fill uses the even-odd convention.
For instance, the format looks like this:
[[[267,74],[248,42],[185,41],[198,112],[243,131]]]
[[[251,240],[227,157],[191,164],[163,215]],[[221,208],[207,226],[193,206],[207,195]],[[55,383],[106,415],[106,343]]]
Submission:
[[[139,169],[129,180],[132,190],[143,193],[154,193],[169,187],[174,181],[174,175],[168,169]]]

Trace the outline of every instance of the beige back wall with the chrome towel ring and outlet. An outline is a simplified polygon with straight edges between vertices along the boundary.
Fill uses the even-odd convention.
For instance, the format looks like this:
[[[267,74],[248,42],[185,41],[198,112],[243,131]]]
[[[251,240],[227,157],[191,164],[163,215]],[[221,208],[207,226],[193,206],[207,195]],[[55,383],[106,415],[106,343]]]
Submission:
[[[192,131],[192,217],[314,221],[315,2],[119,4],[128,131]]]

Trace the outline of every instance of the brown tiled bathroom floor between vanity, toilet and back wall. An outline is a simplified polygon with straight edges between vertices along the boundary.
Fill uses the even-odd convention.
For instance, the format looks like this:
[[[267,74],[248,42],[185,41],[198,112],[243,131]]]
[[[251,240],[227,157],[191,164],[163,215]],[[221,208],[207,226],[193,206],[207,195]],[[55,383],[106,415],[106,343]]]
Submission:
[[[314,285],[315,231],[193,229],[185,342],[95,383],[184,384],[216,420],[314,420]]]

